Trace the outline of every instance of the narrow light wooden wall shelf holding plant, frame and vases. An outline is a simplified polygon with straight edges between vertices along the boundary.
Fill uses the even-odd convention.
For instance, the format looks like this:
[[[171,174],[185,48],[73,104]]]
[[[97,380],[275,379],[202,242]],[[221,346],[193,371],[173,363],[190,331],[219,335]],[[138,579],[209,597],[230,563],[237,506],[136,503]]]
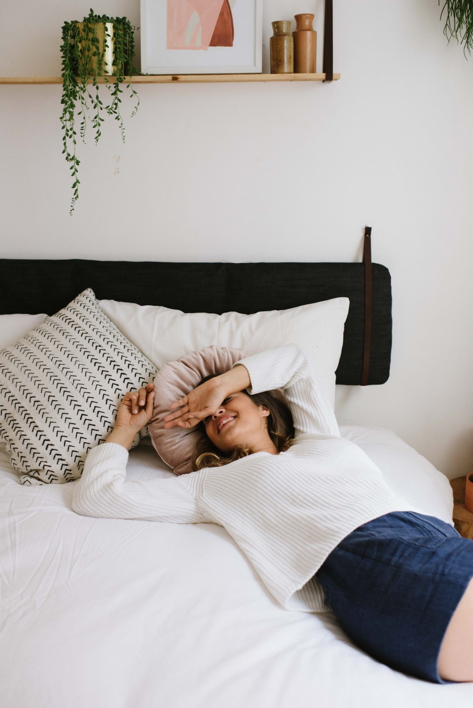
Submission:
[[[325,74],[159,74],[133,76],[133,84],[216,84],[240,83],[242,81],[324,81]],[[340,74],[334,74],[334,81]],[[130,76],[125,76],[129,81]],[[91,83],[92,79],[90,80]],[[109,81],[115,81],[110,76]],[[104,80],[99,76],[98,83]],[[0,84],[62,84],[61,76],[0,76]]]

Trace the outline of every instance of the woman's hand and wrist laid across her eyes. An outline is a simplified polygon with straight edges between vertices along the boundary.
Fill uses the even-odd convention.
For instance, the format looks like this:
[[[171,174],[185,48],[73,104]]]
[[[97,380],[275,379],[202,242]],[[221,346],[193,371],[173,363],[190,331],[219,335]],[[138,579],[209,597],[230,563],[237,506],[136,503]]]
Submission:
[[[164,418],[164,428],[194,428],[207,416],[212,416],[222,405],[222,401],[251,385],[249,373],[243,365],[209,379],[193,389],[187,396],[174,401],[170,410],[179,408],[176,413],[169,413]]]

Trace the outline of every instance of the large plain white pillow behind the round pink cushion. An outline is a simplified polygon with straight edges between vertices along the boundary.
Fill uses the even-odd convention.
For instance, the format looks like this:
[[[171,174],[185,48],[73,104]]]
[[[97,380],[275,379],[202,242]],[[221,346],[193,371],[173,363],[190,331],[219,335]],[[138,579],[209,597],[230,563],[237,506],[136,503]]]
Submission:
[[[348,297],[256,314],[185,314],[181,310],[133,302],[99,300],[102,311],[158,368],[210,347],[242,349],[247,356],[297,343],[309,356],[335,400],[335,370],[343,344]]]

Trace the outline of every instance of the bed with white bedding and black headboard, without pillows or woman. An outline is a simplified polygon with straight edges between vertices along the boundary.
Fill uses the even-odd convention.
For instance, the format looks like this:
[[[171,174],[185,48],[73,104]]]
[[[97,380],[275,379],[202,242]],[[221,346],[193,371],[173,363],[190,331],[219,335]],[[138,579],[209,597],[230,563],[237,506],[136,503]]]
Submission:
[[[337,380],[361,382],[362,264],[0,266],[0,314],[52,314],[84,287],[101,298],[190,312],[256,312],[348,295]],[[197,274],[208,284],[200,299],[191,288]],[[219,307],[210,309],[217,286]],[[387,269],[373,264],[368,384],[389,375],[390,297]],[[394,491],[451,522],[452,495],[443,474],[389,430],[339,422],[341,434],[367,452]],[[149,440],[130,453],[127,474],[173,475]],[[222,527],[84,518],[71,508],[76,484],[21,486],[8,455],[0,453],[0,677],[7,708],[473,703],[472,685],[433,685],[377,663],[351,644],[330,614],[283,610]]]

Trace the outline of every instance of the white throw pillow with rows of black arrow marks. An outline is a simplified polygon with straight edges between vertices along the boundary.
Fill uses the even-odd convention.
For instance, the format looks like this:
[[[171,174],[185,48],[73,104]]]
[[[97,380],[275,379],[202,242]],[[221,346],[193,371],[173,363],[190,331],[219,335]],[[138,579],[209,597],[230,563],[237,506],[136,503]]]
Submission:
[[[113,428],[122,396],[155,375],[92,290],[2,350],[0,440],[21,484],[81,476],[87,453]]]

